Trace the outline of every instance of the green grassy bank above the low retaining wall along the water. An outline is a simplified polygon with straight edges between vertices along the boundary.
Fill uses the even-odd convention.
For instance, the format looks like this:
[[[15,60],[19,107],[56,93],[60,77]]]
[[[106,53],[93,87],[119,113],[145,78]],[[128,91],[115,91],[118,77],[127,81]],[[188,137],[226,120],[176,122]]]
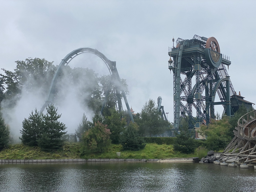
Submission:
[[[136,159],[167,159],[195,157],[194,154],[182,154],[175,152],[172,145],[146,144],[143,150],[124,151],[122,145],[112,144],[109,149],[100,154],[81,155],[82,146],[78,143],[66,143],[61,150],[44,152],[39,147],[28,147],[15,144],[0,152],[0,159],[76,159],[76,158],[117,158],[116,152],[121,152],[120,158]]]

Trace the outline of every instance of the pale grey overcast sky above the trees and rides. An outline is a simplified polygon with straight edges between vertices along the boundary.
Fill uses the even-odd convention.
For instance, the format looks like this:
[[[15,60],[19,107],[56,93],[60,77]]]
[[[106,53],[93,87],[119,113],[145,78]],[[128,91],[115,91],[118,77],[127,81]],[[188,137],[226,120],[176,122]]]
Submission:
[[[172,38],[213,36],[230,57],[235,91],[256,103],[256,1],[0,0],[0,5],[1,68],[13,71],[16,60],[28,57],[58,65],[74,49],[95,48],[116,61],[135,113],[161,96],[173,122],[173,74],[168,69]],[[82,55],[69,65],[108,74],[97,56]]]

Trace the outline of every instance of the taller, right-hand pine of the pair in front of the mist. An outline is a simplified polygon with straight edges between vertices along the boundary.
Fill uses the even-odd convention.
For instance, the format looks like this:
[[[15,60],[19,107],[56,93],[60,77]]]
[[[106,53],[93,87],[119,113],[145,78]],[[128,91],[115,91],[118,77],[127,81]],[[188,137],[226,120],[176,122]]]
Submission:
[[[47,113],[43,115],[44,128],[42,135],[37,140],[38,146],[43,150],[57,150],[63,145],[62,136],[66,134],[66,125],[58,119],[61,114],[57,113],[57,108],[53,104],[46,108]]]

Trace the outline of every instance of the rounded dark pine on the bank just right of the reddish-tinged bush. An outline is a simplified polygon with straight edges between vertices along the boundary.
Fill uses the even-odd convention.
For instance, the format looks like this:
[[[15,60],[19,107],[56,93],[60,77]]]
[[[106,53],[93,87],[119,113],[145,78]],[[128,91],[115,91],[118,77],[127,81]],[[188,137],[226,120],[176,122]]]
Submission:
[[[120,143],[124,150],[138,151],[143,149],[146,144],[138,133],[138,125],[130,123],[120,136]]]

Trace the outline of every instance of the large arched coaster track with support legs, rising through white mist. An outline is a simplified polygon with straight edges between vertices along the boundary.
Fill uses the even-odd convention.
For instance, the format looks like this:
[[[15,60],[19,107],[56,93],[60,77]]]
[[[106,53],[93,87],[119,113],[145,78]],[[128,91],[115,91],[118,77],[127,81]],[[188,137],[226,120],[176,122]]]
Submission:
[[[108,70],[111,74],[111,83],[109,85],[109,88],[106,92],[106,96],[105,96],[105,99],[104,99],[104,102],[102,104],[102,108],[101,108],[101,114],[103,112],[103,108],[106,104],[106,100],[107,100],[107,97],[108,97],[108,94],[109,94],[109,90],[113,85],[115,85],[115,89],[116,89],[116,95],[117,95],[117,100],[118,100],[118,109],[119,109],[119,112],[122,111],[122,102],[121,102],[121,94],[120,92],[122,92],[122,95],[123,95],[123,98],[124,98],[124,101],[125,101],[125,105],[126,105],[126,108],[127,108],[127,112],[130,116],[130,119],[132,122],[134,122],[133,120],[133,117],[132,117],[132,113],[131,113],[131,110],[130,110],[130,107],[129,107],[129,104],[128,104],[128,101],[126,99],[126,95],[125,95],[125,92],[124,90],[121,88],[121,80],[120,80],[120,77],[119,77],[119,74],[118,74],[118,71],[116,69],[116,62],[115,61],[111,61],[109,60],[108,58],[106,58],[105,55],[103,55],[100,51],[98,51],[97,49],[92,49],[92,48],[89,48],[89,47],[85,47],[85,48],[79,48],[79,49],[76,49],[76,50],[73,50],[72,52],[70,52],[66,57],[64,57],[58,68],[56,69],[55,71],[55,74],[52,78],[52,81],[51,81],[51,85],[50,85],[50,88],[49,88],[49,92],[48,92],[48,95],[47,95],[47,100],[45,101],[45,104],[42,106],[40,112],[44,111],[44,109],[46,108],[46,106],[48,106],[48,104],[52,103],[54,101],[54,96],[55,96],[55,93],[56,93],[56,84],[58,82],[58,79],[60,78],[61,74],[63,73],[63,69],[65,67],[65,65],[67,66],[69,64],[69,62],[76,56],[82,54],[82,53],[92,53],[94,55],[97,55],[98,57],[100,57],[106,64],[106,66],[108,67]]]

